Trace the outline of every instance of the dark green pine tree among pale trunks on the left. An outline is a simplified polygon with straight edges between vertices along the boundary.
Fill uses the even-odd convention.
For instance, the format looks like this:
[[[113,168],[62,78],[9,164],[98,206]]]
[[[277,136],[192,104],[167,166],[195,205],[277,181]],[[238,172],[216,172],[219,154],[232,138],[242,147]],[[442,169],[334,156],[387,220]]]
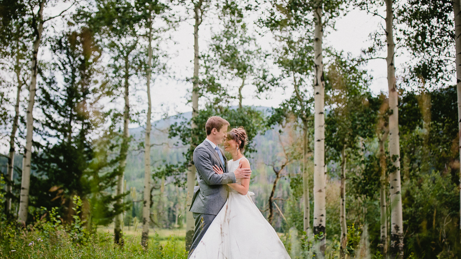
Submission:
[[[36,207],[61,207],[65,213],[63,219],[71,222],[75,212],[74,196],[90,205],[95,186],[100,186],[96,187],[100,191],[112,184],[111,180],[94,183],[95,176],[108,181],[101,175],[107,164],[99,155],[95,157],[91,137],[101,126],[102,116],[93,95],[101,53],[86,28],[50,41],[55,55],[51,68],[40,73],[46,87],[37,95],[43,119],[37,120],[36,131],[45,142],[35,142],[33,169],[36,174],[31,196],[37,198],[33,203]],[[57,76],[64,82],[58,82]],[[107,207],[111,204],[110,197],[102,198]],[[85,219],[91,217],[88,209],[82,213]]]

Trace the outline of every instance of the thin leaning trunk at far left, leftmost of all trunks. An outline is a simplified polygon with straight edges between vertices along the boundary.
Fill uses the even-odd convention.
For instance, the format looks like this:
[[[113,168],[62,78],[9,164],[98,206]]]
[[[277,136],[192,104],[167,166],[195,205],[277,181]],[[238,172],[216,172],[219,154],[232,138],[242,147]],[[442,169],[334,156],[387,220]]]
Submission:
[[[19,101],[20,101],[20,93],[21,88],[23,87],[23,83],[21,82],[20,74],[20,53],[19,53],[19,41],[17,42],[17,52],[16,52],[16,81],[17,81],[17,92],[16,92],[16,104],[14,105],[14,118],[13,118],[13,128],[11,129],[10,134],[10,152],[8,154],[8,168],[7,168],[7,180],[8,183],[6,184],[6,193],[11,194],[12,190],[12,183],[13,183],[13,174],[14,174],[14,155],[15,155],[15,147],[14,147],[14,139],[16,138],[16,131],[17,131],[17,121],[19,119]],[[9,214],[11,210],[11,197],[6,199],[5,203],[5,214]]]

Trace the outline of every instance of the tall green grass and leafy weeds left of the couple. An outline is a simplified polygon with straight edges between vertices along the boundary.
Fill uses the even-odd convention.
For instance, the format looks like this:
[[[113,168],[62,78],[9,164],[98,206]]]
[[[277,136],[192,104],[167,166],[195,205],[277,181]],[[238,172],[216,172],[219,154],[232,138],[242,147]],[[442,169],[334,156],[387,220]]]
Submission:
[[[38,209],[39,220],[27,227],[0,215],[0,258],[187,258],[183,239],[165,242],[158,234],[149,239],[148,249],[141,247],[139,235],[126,238],[123,247],[115,245],[113,234],[88,231],[78,217],[78,197],[74,204],[72,224],[63,224],[56,209]]]

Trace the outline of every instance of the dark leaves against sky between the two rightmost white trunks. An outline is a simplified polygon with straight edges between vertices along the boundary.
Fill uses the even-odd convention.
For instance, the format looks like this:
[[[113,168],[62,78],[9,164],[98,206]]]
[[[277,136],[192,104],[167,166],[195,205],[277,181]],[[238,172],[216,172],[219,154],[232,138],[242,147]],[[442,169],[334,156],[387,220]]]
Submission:
[[[440,87],[455,74],[452,1],[406,1],[395,8],[402,47],[411,53],[404,83]]]

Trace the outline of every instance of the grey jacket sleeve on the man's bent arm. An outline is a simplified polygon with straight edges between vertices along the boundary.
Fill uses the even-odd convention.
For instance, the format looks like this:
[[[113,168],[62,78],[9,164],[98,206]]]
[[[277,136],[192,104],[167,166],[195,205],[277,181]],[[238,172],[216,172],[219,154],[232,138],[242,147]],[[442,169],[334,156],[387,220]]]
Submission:
[[[194,164],[197,168],[197,172],[202,176],[203,180],[208,185],[228,184],[236,182],[234,172],[227,172],[222,175],[216,174],[216,172],[213,171],[213,164],[209,158],[209,153],[202,148],[197,148],[194,150]]]

